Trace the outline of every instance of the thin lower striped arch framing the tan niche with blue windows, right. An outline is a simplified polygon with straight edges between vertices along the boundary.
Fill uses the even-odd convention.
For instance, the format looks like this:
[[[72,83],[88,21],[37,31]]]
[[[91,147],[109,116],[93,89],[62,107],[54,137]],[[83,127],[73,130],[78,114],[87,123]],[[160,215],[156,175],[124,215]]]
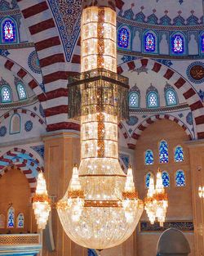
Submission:
[[[157,122],[157,120],[161,120],[161,119],[168,119],[175,122],[176,124],[179,124],[180,127],[183,128],[184,132],[186,132],[186,134],[188,135],[189,140],[193,139],[193,135],[191,134],[187,126],[180,121],[180,119],[176,119],[175,116],[172,116],[172,115],[159,114],[159,115],[153,115],[148,119],[145,119],[142,123],[140,123],[139,126],[135,128],[135,131],[132,132],[131,137],[128,136],[128,133],[126,132],[126,128],[124,128],[122,123],[120,123],[119,128],[123,136],[126,138],[126,146],[128,146],[129,149],[135,150],[136,142],[139,140],[142,132],[144,132],[144,130],[148,128],[150,124],[153,124]]]

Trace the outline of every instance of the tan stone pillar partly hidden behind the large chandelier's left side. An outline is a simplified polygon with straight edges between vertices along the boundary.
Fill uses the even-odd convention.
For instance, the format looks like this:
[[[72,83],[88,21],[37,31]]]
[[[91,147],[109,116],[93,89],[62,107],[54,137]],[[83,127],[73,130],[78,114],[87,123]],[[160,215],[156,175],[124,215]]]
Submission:
[[[73,164],[80,162],[80,139],[78,133],[55,132],[43,137],[45,143],[45,177],[47,191],[55,203],[69,186]],[[51,227],[55,250],[50,252],[43,237],[43,256],[85,256],[86,250],[75,245],[63,231],[56,209],[51,210]]]

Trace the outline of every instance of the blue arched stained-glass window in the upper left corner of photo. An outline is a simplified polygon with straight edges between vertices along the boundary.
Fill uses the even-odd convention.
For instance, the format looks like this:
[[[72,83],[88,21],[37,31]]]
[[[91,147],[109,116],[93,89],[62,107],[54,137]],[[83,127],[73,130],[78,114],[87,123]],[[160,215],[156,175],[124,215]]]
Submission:
[[[2,41],[3,43],[16,42],[16,25],[10,19],[2,23]]]

